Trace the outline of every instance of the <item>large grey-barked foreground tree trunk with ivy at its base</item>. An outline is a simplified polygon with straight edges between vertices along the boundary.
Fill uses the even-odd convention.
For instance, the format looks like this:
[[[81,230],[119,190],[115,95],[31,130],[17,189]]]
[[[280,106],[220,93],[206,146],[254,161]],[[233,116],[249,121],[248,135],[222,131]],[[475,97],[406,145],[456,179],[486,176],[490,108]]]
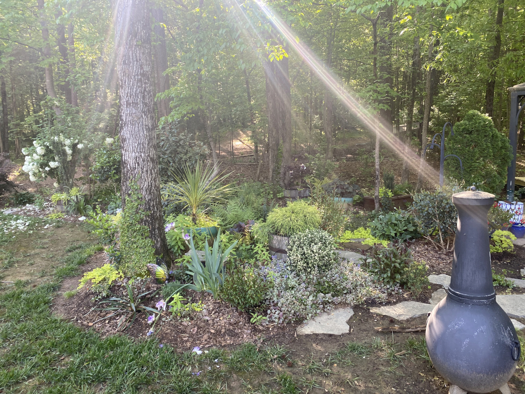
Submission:
[[[138,180],[142,209],[147,213],[143,224],[149,228],[155,253],[170,265],[156,150],[148,3],[119,0],[113,15],[121,106],[122,206],[124,208],[125,198],[130,194],[130,183]]]

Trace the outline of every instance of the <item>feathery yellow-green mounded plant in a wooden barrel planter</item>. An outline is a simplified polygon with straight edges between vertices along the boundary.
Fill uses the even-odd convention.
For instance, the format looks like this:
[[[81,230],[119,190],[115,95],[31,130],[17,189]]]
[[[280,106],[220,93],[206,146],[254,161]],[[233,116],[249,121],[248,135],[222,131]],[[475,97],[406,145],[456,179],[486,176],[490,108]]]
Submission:
[[[320,225],[319,211],[306,202],[289,202],[287,206],[274,209],[268,214],[265,223],[270,234],[270,254],[286,261],[290,236],[307,230],[317,230]]]

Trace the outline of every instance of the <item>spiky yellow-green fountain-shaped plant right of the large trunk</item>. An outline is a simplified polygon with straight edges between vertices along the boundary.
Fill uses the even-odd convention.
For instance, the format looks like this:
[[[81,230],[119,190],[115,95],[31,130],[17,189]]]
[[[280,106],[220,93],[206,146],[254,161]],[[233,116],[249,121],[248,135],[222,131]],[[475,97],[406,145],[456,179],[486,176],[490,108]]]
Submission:
[[[198,210],[204,213],[211,206],[226,202],[226,196],[235,190],[230,184],[222,184],[229,174],[215,173],[213,167],[204,166],[200,161],[194,169],[186,164],[182,172],[182,177],[172,173],[176,182],[168,183],[163,195],[190,208],[193,224],[197,224]]]

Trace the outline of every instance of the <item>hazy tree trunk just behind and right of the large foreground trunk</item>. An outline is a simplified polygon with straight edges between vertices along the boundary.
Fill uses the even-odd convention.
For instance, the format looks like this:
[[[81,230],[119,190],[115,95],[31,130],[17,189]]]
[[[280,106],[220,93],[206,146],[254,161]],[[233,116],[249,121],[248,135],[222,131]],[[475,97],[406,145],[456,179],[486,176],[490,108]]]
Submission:
[[[164,15],[162,8],[153,8],[151,10],[155,18],[153,25],[153,33],[155,34],[153,45],[153,58],[155,59],[155,88],[157,93],[162,93],[170,89],[170,76],[164,75],[167,69],[167,53],[166,53],[166,33],[164,31]],[[157,116],[162,118],[170,114],[169,99],[157,100]]]

